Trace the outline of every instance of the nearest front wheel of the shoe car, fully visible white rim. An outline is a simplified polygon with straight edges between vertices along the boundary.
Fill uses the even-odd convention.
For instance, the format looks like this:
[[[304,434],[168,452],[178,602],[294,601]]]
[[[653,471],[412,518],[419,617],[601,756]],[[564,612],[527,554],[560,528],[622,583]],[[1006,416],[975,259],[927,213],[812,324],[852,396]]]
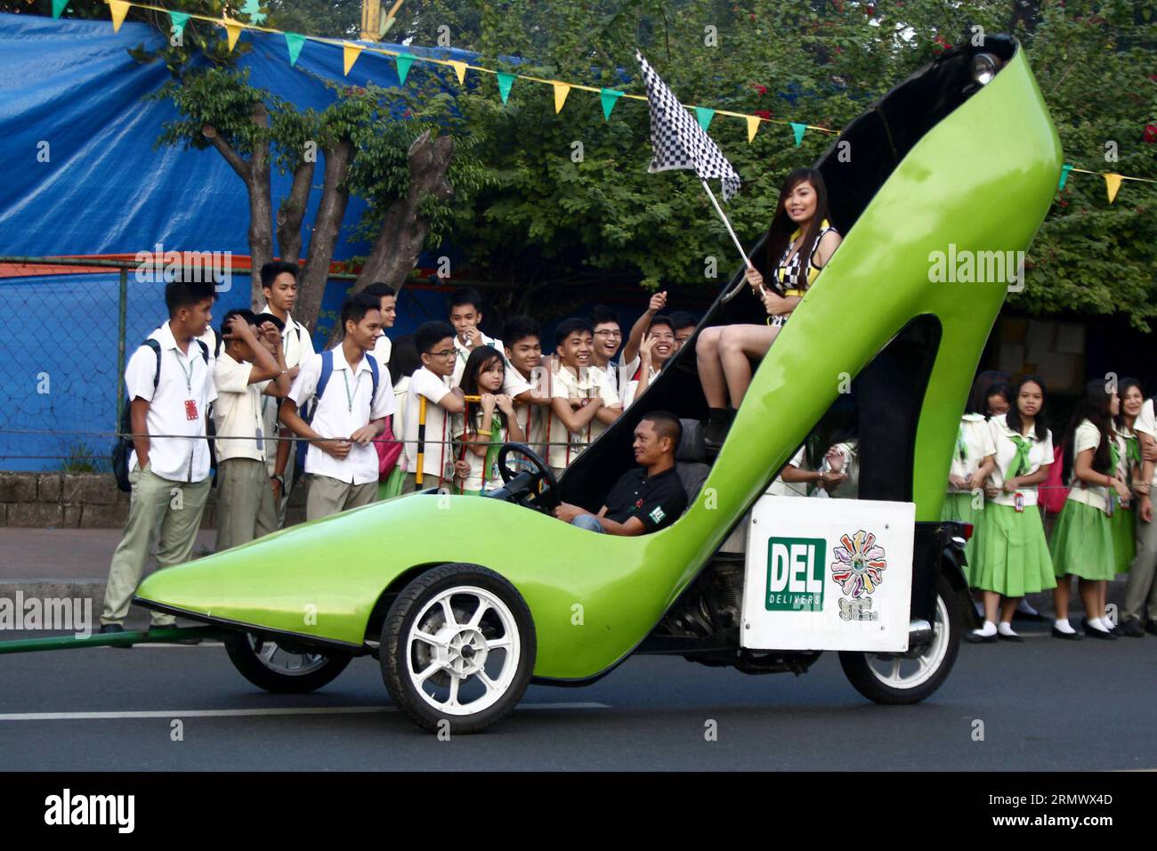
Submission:
[[[535,670],[535,623],[494,571],[449,564],[422,573],[382,628],[382,678],[430,732],[477,733],[509,713]]]

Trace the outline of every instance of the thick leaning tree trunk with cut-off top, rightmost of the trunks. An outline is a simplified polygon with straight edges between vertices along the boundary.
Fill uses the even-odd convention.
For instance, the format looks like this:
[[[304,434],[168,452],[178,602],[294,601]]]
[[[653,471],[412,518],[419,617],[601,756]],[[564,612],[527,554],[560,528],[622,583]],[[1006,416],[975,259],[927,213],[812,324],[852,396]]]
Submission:
[[[385,211],[382,229],[374,240],[369,257],[349,288],[349,294],[360,293],[375,281],[389,284],[400,289],[418,263],[418,255],[429,234],[429,219],[418,214],[418,207],[426,195],[440,199],[450,198],[454,186],[445,175],[454,160],[454,139],[448,135],[430,138],[429,131],[414,139],[407,152],[410,161],[410,188],[404,198],[395,200]],[[334,325],[330,344],[341,339],[341,329]]]

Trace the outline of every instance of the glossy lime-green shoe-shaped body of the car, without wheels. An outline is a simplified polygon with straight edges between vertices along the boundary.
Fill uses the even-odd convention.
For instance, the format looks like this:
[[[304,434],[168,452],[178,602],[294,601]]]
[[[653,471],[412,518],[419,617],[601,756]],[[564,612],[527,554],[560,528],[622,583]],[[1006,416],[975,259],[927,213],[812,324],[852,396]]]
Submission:
[[[383,595],[425,567],[480,564],[513,582],[530,608],[536,677],[596,677],[656,626],[849,376],[928,315],[941,336],[919,405],[909,492],[918,522],[938,521],[960,415],[1008,283],[936,283],[930,256],[949,243],[958,255],[1026,250],[1062,163],[1024,53],[1009,44],[995,79],[923,133],[845,233],[756,372],[702,491],[672,526],[622,538],[498,499],[411,494],[160,571],[140,586],[138,602],[361,653],[378,638],[367,626]],[[840,186],[828,181],[828,192]],[[686,354],[693,361],[693,351]],[[621,442],[633,425],[614,428]],[[578,475],[572,468],[563,491]]]

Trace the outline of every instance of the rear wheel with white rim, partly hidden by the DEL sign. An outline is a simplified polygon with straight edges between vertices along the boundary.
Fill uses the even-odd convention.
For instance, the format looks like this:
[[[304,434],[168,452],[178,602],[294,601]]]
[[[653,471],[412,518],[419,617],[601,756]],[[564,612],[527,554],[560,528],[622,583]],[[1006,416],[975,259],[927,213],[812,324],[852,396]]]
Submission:
[[[915,656],[897,653],[840,652],[840,667],[856,691],[882,704],[920,703],[948,678],[960,651],[960,611],[952,586],[936,582],[933,639]]]

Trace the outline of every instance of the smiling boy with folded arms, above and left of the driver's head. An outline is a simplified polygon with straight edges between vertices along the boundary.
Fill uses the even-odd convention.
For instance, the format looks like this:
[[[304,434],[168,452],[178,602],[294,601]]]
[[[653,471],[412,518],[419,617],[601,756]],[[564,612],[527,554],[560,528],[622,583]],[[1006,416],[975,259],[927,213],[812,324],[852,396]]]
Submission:
[[[552,376],[550,458],[562,472],[622,413],[614,388],[600,369],[591,369],[594,332],[585,320],[569,318],[554,331],[559,368]]]

